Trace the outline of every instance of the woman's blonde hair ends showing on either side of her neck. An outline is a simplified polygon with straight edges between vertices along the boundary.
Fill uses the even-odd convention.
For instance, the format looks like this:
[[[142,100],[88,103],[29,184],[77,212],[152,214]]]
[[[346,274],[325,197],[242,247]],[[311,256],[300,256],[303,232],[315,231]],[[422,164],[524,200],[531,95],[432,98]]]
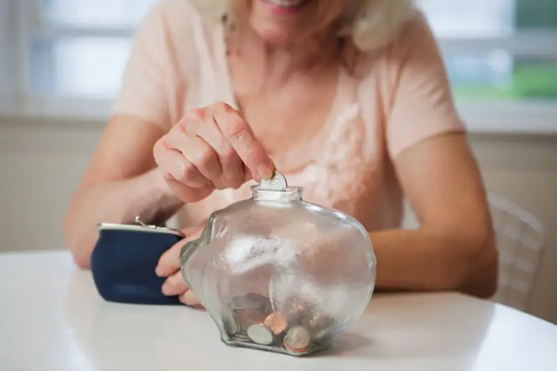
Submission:
[[[221,19],[231,0],[189,0],[204,17]],[[414,0],[349,0],[340,15],[340,35],[362,51],[388,45],[415,14]]]

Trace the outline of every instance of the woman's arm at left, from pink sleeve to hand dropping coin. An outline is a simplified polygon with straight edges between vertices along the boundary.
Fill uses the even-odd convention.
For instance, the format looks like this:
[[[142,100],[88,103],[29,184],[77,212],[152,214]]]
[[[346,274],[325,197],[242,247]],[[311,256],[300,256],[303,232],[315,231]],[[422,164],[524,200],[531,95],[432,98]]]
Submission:
[[[173,112],[174,103],[183,104],[171,103],[184,78],[180,65],[196,63],[193,50],[178,63],[172,49],[191,42],[182,5],[160,1],[136,31],[115,114],[65,216],[66,243],[79,267],[90,265],[98,223],[132,223],[135,216],[162,223],[213,189],[272,176],[272,161],[227,104],[183,118]]]

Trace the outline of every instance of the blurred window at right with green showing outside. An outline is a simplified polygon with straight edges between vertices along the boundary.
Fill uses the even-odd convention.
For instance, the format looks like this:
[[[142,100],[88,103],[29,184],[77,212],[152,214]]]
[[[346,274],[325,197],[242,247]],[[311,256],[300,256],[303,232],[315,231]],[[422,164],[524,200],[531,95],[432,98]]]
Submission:
[[[457,97],[557,99],[557,1],[419,3],[439,38]]]

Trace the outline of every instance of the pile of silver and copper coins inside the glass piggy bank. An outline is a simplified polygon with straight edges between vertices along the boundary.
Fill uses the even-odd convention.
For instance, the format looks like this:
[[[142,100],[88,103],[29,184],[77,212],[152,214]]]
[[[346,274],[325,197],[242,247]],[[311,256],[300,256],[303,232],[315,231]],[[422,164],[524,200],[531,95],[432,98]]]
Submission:
[[[230,340],[238,345],[306,354],[330,340],[334,319],[318,313],[302,299],[291,297],[281,310],[272,310],[269,298],[247,294],[233,298],[222,322]]]

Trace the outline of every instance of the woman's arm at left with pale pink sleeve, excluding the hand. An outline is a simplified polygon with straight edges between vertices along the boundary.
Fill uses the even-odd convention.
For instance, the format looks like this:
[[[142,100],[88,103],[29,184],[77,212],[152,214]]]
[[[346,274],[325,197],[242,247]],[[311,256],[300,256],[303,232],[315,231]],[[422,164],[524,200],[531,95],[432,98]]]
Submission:
[[[171,3],[152,6],[140,22],[113,116],[65,215],[66,244],[89,267],[97,223],[160,223],[183,205],[157,173],[153,145],[171,129],[168,97],[174,70],[168,34]]]

